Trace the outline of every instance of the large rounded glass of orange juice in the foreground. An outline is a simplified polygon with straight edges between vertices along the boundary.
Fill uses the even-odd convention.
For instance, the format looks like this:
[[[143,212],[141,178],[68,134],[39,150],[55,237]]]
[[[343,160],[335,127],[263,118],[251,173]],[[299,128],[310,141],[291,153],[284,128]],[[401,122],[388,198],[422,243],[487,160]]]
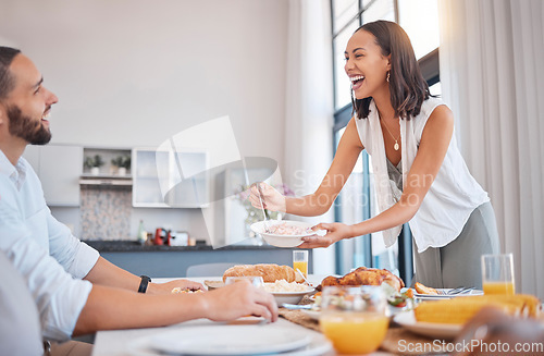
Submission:
[[[390,324],[387,299],[380,286],[325,286],[320,329],[339,354],[370,354]]]

